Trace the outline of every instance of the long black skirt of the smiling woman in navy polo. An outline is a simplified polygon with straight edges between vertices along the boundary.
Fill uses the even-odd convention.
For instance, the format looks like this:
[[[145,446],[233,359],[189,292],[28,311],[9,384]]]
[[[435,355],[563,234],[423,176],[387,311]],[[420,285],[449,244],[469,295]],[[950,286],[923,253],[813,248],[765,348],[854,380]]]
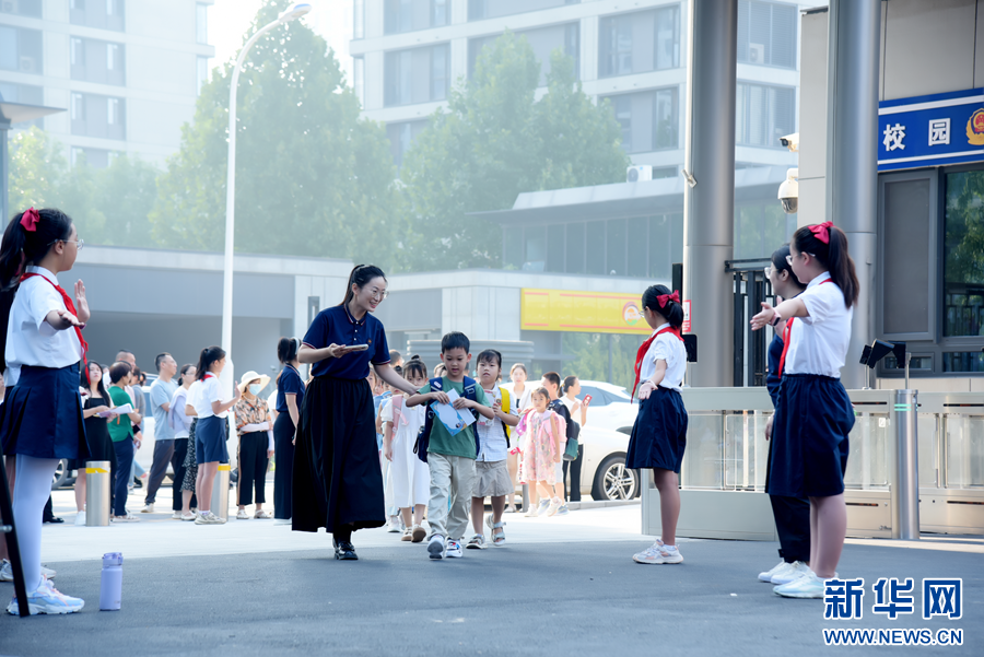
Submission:
[[[315,377],[301,402],[294,450],[295,531],[386,524],[373,392],[365,379]]]

